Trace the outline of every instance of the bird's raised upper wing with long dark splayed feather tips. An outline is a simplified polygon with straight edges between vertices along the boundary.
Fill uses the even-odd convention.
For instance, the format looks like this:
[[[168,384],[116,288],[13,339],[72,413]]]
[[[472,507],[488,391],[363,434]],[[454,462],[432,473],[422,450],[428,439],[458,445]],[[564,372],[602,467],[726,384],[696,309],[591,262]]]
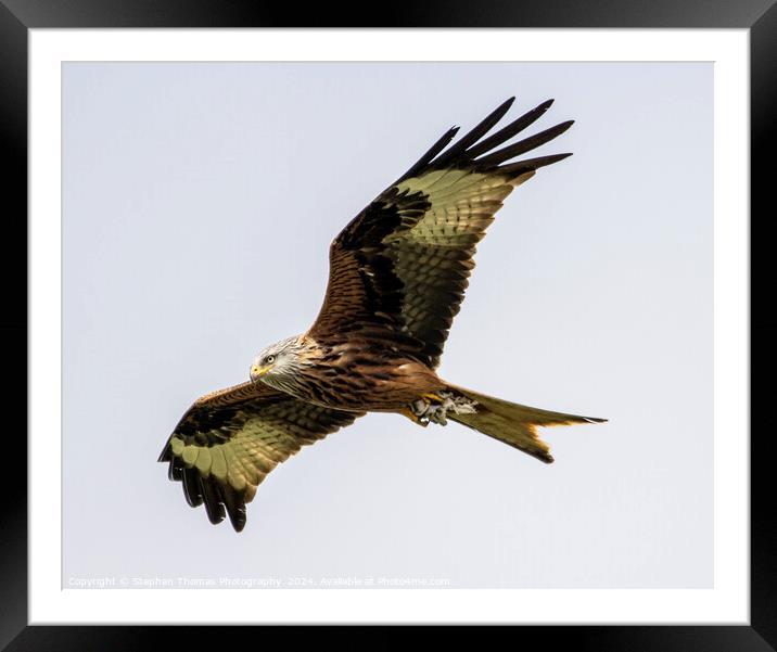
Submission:
[[[361,332],[395,340],[434,368],[474,267],[475,245],[512,190],[570,154],[510,162],[556,138],[561,123],[512,144],[552,100],[483,137],[507,113],[501,104],[447,150],[447,131],[405,175],[336,236],[314,337]],[[483,140],[482,140],[483,139]]]

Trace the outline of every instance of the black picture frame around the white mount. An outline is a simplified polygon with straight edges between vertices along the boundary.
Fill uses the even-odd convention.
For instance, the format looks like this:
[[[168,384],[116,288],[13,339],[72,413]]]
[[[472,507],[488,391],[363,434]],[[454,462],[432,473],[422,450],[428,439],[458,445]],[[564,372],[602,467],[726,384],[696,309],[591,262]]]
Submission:
[[[371,14],[370,12],[374,12]],[[27,215],[27,40],[28,30],[41,27],[593,27],[593,28],[741,28],[750,30],[751,46],[751,347],[752,368],[772,370],[777,361],[777,321],[767,303],[754,301],[769,282],[765,247],[767,175],[766,153],[774,151],[772,115],[777,95],[777,8],[773,0],[652,0],[619,2],[595,0],[574,2],[546,0],[510,1],[463,0],[411,3],[392,2],[386,7],[359,9],[321,3],[305,8],[251,0],[0,0],[0,135],[8,161],[2,175],[3,234],[5,255],[0,257],[5,309],[0,315],[4,357],[16,369],[25,369],[27,346],[27,289],[16,281],[26,270]],[[757,165],[762,161],[763,165]],[[774,213],[774,208],[770,209]],[[752,236],[752,235],[755,236]],[[12,256],[11,253],[14,255]],[[18,258],[15,257],[18,256]],[[21,280],[21,279],[20,279]],[[24,366],[22,358],[25,358]],[[18,359],[16,359],[18,358]],[[0,647],[18,650],[141,650],[166,644],[188,648],[221,645],[229,637],[222,627],[173,626],[27,626],[27,483],[26,383],[4,366],[4,416],[7,426],[0,474]],[[766,376],[768,378],[768,376]],[[742,626],[522,626],[517,644],[557,645],[582,650],[703,650],[766,651],[777,648],[777,519],[769,487],[774,437],[764,427],[767,383],[751,384],[751,621]],[[17,473],[10,473],[14,470]],[[205,598],[207,599],[207,598]],[[275,627],[265,626],[275,629]],[[242,632],[259,644],[271,632]],[[483,645],[493,628],[457,628],[458,644]],[[282,632],[279,632],[282,634]],[[415,634],[413,634],[415,636]],[[435,635],[436,636],[436,635]],[[294,634],[296,644],[320,644],[330,637],[339,647],[364,648],[399,644],[404,628],[372,626],[353,631],[332,631],[331,627],[306,627]],[[334,637],[337,637],[336,639]],[[528,639],[528,640],[527,640]]]

